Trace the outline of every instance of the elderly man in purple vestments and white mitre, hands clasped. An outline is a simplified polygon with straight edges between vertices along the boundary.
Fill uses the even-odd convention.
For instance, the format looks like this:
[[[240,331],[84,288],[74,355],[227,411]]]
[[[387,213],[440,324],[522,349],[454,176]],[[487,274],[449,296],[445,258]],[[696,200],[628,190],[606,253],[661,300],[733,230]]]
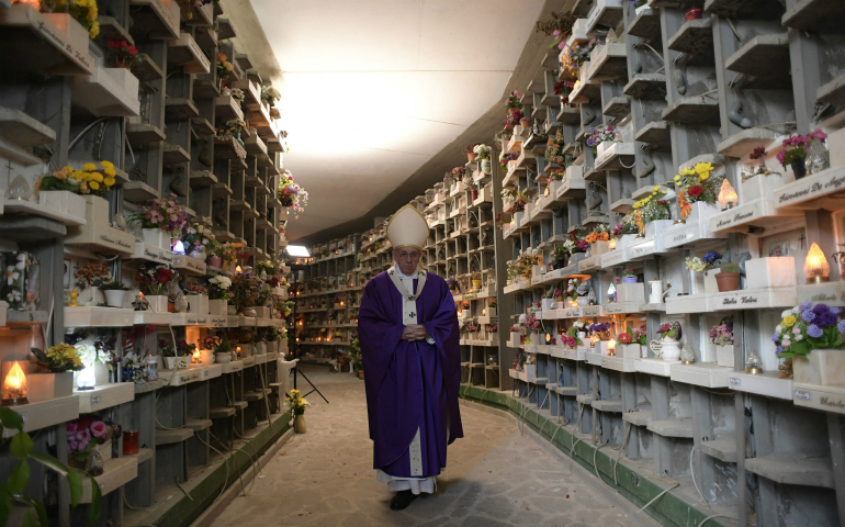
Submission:
[[[393,511],[433,493],[446,448],[463,437],[461,356],[446,281],[419,268],[428,224],[407,205],[387,224],[394,266],[364,288],[358,333],[376,479]]]

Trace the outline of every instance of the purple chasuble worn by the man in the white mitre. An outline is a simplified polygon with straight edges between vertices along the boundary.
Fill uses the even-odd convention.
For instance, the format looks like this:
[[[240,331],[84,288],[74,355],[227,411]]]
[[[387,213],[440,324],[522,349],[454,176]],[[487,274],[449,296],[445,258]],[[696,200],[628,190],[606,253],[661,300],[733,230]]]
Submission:
[[[417,287],[415,279],[415,291]],[[373,468],[395,478],[428,478],[446,467],[447,445],[463,437],[458,316],[446,280],[429,272],[416,302],[417,323],[435,345],[402,340],[403,300],[381,272],[364,288],[359,310]],[[408,447],[417,430],[422,473],[412,475]]]

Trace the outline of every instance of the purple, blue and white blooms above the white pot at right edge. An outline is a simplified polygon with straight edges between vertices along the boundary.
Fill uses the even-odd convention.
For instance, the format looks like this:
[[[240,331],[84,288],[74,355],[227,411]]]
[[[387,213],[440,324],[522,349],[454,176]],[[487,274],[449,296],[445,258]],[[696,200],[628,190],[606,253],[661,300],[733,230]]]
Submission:
[[[807,358],[813,349],[845,349],[842,307],[803,302],[781,313],[771,340],[781,359]]]

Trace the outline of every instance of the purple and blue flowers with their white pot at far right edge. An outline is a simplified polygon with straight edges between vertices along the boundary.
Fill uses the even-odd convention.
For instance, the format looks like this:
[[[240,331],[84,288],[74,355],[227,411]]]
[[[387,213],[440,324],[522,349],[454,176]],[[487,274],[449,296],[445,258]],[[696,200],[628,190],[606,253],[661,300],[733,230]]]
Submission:
[[[792,360],[795,382],[841,386],[845,371],[842,309],[803,302],[785,311],[771,339],[781,359]]]

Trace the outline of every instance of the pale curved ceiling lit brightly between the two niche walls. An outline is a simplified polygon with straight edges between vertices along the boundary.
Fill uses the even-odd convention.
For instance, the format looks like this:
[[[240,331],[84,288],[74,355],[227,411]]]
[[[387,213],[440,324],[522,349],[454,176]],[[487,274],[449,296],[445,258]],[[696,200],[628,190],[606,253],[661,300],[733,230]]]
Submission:
[[[237,49],[283,93],[284,166],[309,193],[288,238],[370,228],[465,162],[465,143],[489,144],[548,52],[534,22],[564,3],[223,0]]]

